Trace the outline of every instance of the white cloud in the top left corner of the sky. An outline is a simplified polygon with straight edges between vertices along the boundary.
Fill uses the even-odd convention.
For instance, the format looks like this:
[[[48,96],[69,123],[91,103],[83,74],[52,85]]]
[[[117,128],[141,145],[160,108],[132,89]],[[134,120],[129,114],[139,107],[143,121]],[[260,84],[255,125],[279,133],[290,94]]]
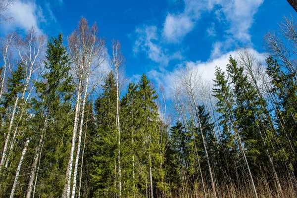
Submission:
[[[14,21],[1,24],[4,32],[17,29],[27,31],[34,26],[38,33],[42,33],[39,23],[46,22],[41,6],[38,6],[35,1],[15,0],[7,10],[7,15],[12,16]]]

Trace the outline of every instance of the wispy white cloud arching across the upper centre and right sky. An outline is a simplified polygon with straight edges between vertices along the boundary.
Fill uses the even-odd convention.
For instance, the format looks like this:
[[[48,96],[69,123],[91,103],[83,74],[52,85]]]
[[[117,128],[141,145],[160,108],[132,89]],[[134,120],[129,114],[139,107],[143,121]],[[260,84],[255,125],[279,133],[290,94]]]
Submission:
[[[182,49],[184,38],[198,26],[198,20],[206,13],[213,15],[222,29],[217,32],[215,27],[217,23],[214,21],[205,29],[208,36],[216,39],[220,34],[219,40],[213,40],[210,58],[220,57],[242,44],[251,46],[249,29],[263,0],[183,0],[182,2],[183,4],[179,6],[184,6],[183,11],[167,12],[162,27],[144,24],[136,28],[135,54],[139,50],[144,51],[149,59],[161,65],[167,65],[171,59],[179,59],[182,54],[168,50],[170,49],[168,45],[178,44]]]

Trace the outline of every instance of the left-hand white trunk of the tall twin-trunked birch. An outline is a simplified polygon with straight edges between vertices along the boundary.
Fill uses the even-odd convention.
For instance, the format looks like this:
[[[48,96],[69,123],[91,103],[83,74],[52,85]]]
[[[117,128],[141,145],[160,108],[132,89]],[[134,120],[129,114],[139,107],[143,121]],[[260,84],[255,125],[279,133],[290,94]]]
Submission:
[[[81,99],[82,78],[83,78],[83,76],[81,74],[80,79],[79,79],[79,84],[78,84],[78,92],[77,92],[77,100],[76,100],[75,115],[74,115],[74,126],[73,126],[71,150],[70,150],[70,156],[69,156],[68,166],[67,166],[67,171],[66,171],[66,183],[65,183],[65,186],[64,186],[62,198],[69,198],[70,197],[70,184],[71,184],[71,176],[72,176],[74,148],[75,148],[75,143],[76,143],[76,133],[77,133],[77,128],[78,128],[78,116],[79,116],[80,99]]]

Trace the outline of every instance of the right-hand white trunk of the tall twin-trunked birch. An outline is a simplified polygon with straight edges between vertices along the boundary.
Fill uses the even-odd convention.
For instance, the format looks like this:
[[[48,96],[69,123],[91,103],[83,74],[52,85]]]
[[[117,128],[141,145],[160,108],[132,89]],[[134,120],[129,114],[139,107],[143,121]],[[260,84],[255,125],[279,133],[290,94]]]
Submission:
[[[77,153],[76,153],[76,159],[75,159],[75,165],[74,165],[74,171],[73,171],[73,186],[72,186],[71,198],[75,197],[75,190],[76,190],[76,183],[77,183],[77,169],[78,169],[78,161],[79,161],[80,148],[81,148],[81,142],[82,142],[83,124],[84,124],[84,117],[85,117],[85,106],[86,106],[86,100],[87,100],[87,95],[88,95],[89,72],[87,75],[88,75],[88,77],[87,77],[87,81],[86,81],[86,90],[85,90],[84,99],[83,99],[82,112],[81,112],[82,116],[81,116],[79,135],[78,135]]]

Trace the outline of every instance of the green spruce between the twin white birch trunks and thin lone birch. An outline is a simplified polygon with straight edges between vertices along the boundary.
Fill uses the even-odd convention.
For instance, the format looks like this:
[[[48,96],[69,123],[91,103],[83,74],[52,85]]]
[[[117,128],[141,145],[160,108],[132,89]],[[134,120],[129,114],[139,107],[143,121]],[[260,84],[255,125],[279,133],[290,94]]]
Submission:
[[[102,94],[95,102],[97,132],[92,138],[91,177],[94,197],[112,197],[117,193],[116,160],[116,86],[112,72],[104,80]]]

